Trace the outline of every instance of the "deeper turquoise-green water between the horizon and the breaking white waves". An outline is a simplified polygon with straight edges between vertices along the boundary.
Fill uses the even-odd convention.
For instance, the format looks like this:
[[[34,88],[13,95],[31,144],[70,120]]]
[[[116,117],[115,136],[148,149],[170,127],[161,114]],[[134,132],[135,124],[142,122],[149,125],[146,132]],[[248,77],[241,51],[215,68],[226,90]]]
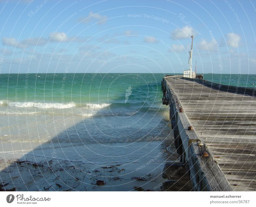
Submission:
[[[172,74],[170,74],[172,75]],[[34,107],[37,103],[116,103],[123,104],[126,89],[131,85],[132,93],[130,101],[125,107],[138,107],[141,100],[145,99],[143,107],[154,105],[154,97],[161,94],[161,80],[164,74],[93,74],[93,73],[67,73],[67,74],[0,74],[1,103],[6,100],[20,102],[15,106],[21,107],[23,102],[26,106]],[[246,74],[204,74],[204,79],[225,85],[240,85],[253,87],[256,75]],[[141,93],[145,94],[141,94]],[[158,96],[159,97],[159,96]],[[153,98],[153,99],[152,99]],[[136,105],[138,104],[138,105]],[[153,106],[152,105],[152,106]],[[24,105],[25,106],[25,105]],[[46,105],[45,105],[46,106]],[[36,105],[35,107],[42,107]],[[52,107],[60,107],[54,106]],[[63,106],[64,108],[65,106]],[[68,107],[68,106],[67,106]],[[51,107],[50,107],[51,108]]]

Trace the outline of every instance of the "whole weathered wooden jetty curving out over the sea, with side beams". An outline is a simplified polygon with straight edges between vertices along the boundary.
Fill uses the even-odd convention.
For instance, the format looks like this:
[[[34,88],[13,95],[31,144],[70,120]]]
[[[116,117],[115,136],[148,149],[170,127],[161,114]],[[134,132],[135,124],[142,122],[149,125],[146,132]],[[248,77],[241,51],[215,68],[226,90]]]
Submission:
[[[256,87],[166,76],[162,90],[193,190],[255,191]]]

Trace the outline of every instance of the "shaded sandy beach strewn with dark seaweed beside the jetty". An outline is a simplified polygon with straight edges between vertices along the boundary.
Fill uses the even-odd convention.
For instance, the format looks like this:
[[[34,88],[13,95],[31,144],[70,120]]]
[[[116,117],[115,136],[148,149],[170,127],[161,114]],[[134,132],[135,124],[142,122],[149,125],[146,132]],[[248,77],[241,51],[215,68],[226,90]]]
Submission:
[[[164,163],[106,163],[0,159],[6,191],[161,191]]]

